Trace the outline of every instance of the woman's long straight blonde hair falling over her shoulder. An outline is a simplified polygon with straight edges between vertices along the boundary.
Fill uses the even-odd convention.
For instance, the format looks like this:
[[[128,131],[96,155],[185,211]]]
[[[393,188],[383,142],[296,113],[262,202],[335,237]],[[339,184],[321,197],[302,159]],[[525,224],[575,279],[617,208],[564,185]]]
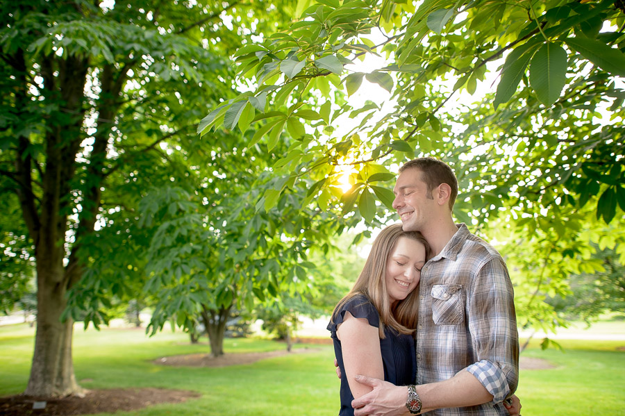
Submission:
[[[417,327],[417,311],[419,310],[419,290],[415,288],[401,301],[391,305],[386,288],[386,264],[390,253],[397,246],[399,238],[406,237],[420,242],[425,246],[426,259],[430,255],[430,246],[419,231],[403,231],[401,224],[393,224],[384,228],[378,235],[367,257],[365,267],[354,283],[353,288],[334,308],[332,322],[342,305],[349,299],[364,294],[380,314],[380,338],[384,336],[384,326],[390,326],[398,333],[410,335]]]

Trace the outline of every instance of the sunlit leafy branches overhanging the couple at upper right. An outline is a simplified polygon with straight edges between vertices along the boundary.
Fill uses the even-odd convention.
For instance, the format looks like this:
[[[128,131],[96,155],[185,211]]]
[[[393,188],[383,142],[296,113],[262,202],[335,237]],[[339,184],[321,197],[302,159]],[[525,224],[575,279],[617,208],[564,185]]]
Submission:
[[[370,226],[390,208],[385,181],[397,165],[444,159],[458,175],[456,218],[478,233],[503,224],[523,242],[510,256],[524,257],[510,261],[526,323],[561,324],[538,302],[544,294],[564,292],[579,267],[603,268],[589,260],[591,242],[609,238],[625,253],[622,2],[302,0],[298,10],[299,22],[235,53],[256,90],[215,108],[199,133],[233,128],[262,99],[249,146],[306,124],[283,160],[305,154],[311,196]],[[366,56],[384,64],[352,65]],[[365,81],[389,91],[394,108],[351,100]],[[347,133],[337,128],[349,120]],[[346,170],[353,188],[334,194]]]

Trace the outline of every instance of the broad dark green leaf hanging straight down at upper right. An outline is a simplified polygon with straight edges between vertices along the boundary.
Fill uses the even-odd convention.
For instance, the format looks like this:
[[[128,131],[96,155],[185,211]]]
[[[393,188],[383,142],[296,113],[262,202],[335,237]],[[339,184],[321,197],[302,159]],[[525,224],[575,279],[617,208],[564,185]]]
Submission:
[[[567,83],[567,52],[554,43],[536,51],[530,63],[530,85],[544,106],[553,105]]]

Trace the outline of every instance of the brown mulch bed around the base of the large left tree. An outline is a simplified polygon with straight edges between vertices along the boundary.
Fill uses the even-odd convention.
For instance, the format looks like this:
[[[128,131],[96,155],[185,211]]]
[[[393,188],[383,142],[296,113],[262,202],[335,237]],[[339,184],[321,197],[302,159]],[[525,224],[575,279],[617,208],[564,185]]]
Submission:
[[[90,415],[93,413],[115,413],[117,410],[135,410],[158,403],[181,403],[197,399],[201,394],[188,390],[160,388],[132,388],[110,390],[86,390],[85,397],[69,396],[63,399],[41,399],[33,396],[0,397],[0,415]],[[35,402],[45,400],[45,408],[33,409]]]

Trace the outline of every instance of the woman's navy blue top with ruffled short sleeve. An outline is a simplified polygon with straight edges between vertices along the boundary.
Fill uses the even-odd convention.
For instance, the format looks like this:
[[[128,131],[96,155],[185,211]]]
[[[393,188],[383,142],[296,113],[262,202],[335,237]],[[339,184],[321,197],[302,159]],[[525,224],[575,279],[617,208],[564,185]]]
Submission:
[[[336,337],[336,327],[342,324],[345,312],[356,318],[365,318],[369,321],[369,325],[380,327],[380,315],[376,307],[369,301],[364,294],[358,294],[349,299],[335,316],[335,321],[328,324],[328,331],[331,332],[331,338],[334,341],[334,353],[341,369],[341,410],[340,416],[353,416],[353,408],[351,401],[353,394],[349,390],[347,377],[345,374],[345,366],[343,364],[343,353],[341,342]],[[417,358],[415,357],[415,339],[412,335],[403,335],[394,331],[394,329],[385,326],[384,334],[386,338],[380,340],[380,349],[382,352],[382,363],[384,365],[384,380],[394,385],[415,384],[415,374],[417,373]]]

